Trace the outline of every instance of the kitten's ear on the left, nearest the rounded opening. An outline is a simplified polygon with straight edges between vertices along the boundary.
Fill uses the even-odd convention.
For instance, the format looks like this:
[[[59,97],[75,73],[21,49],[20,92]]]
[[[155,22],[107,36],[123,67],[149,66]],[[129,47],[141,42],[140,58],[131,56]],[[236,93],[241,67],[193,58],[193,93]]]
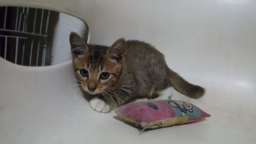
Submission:
[[[70,46],[74,57],[78,57],[89,52],[86,42],[74,32],[70,34]]]

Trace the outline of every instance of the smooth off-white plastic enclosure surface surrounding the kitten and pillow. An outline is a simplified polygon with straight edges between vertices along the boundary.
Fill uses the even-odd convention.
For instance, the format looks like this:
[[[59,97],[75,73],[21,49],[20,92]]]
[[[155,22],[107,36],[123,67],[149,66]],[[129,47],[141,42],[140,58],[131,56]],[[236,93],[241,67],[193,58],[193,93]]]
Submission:
[[[211,114],[203,122],[139,134],[114,112],[90,109],[71,61],[27,67],[0,58],[1,144],[256,142],[254,0],[1,0],[0,6],[78,16],[89,26],[90,43],[111,45],[121,37],[150,42],[172,70],[206,89],[199,99],[176,91],[173,99]]]

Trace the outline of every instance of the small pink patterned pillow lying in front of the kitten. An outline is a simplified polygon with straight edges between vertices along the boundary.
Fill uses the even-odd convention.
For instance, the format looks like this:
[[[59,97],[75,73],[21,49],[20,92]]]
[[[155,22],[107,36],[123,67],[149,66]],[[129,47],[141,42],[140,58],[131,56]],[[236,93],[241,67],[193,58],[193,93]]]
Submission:
[[[134,102],[114,111],[118,117],[143,130],[199,122],[210,117],[190,102],[176,100]]]

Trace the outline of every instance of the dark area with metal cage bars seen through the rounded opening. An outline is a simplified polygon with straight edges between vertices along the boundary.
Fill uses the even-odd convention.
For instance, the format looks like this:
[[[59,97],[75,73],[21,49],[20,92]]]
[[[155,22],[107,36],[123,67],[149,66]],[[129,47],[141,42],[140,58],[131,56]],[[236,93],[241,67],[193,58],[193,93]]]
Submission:
[[[0,7],[0,55],[23,66],[50,65],[51,10]]]

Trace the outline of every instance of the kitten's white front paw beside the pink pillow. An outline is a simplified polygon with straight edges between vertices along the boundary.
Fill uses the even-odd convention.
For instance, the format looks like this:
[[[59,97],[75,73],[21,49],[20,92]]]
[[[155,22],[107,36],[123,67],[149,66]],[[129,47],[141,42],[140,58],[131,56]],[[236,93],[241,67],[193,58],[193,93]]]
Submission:
[[[108,113],[111,111],[110,105],[108,105],[105,101],[103,101],[102,99],[97,98],[97,97],[92,98],[90,100],[90,107],[93,110],[96,110],[96,111],[102,112],[102,113]]]

